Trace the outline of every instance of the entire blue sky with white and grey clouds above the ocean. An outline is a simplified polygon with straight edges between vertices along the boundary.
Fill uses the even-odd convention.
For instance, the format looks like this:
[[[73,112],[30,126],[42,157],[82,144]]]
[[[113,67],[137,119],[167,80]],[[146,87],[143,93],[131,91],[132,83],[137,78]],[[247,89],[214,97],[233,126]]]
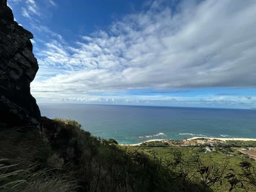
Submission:
[[[8,0],[38,103],[256,108],[256,1]]]

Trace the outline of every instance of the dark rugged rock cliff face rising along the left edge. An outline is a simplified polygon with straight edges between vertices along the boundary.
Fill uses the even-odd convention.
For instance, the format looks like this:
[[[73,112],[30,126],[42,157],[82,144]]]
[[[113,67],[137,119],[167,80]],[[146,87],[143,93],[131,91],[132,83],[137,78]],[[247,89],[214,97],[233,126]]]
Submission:
[[[30,83],[38,71],[31,32],[14,21],[6,0],[0,0],[0,126],[36,125],[41,120]]]

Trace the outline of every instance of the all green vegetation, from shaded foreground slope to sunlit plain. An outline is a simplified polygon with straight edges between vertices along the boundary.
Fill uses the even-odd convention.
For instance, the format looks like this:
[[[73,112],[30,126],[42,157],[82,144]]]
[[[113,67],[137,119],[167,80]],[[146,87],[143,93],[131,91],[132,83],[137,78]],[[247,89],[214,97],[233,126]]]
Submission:
[[[22,145],[13,151],[22,158],[0,160],[0,191],[255,190],[255,161],[244,161],[241,153],[227,146],[208,153],[203,147],[166,148],[161,145],[169,145],[162,142],[147,144],[145,148],[121,146],[114,139],[92,136],[72,119],[48,121],[42,135],[34,138],[16,131],[25,139],[14,139],[11,136],[15,131],[7,132],[13,139],[3,142],[15,148],[18,140]],[[6,138],[5,132],[1,138]],[[6,154],[15,159],[16,154]],[[227,156],[231,154],[234,156]],[[4,153],[0,156],[4,157]]]

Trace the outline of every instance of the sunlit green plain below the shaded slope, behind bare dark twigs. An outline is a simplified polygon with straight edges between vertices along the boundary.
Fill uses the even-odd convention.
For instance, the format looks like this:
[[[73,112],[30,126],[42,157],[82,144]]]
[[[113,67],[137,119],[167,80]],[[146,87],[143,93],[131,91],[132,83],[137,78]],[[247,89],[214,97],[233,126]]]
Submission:
[[[161,158],[163,164],[170,167],[174,174],[179,175],[185,180],[190,180],[191,182],[204,183],[207,173],[204,173],[202,176],[200,170],[207,167],[212,168],[212,170],[209,170],[209,174],[215,172],[215,174],[218,173],[218,176],[221,175],[220,178],[212,177],[214,178],[214,182],[210,182],[211,180],[208,179],[210,183],[204,183],[213,191],[229,191],[231,189],[231,183],[234,181],[237,182],[237,184],[232,191],[255,191],[256,175],[253,170],[253,167],[256,166],[255,160],[247,159],[246,156],[243,156],[241,153],[236,153],[236,150],[231,152],[232,150],[230,148],[214,148],[215,150],[208,153],[205,153],[202,149],[203,148],[194,147],[140,148],[140,150],[151,154],[151,156],[154,154]],[[216,149],[220,152],[225,150],[227,155],[217,153]],[[231,153],[234,156],[229,156]],[[177,162],[179,162],[178,165]],[[251,170],[245,170],[244,167],[241,166],[241,162],[247,162],[251,165]],[[249,178],[247,178],[248,176]]]

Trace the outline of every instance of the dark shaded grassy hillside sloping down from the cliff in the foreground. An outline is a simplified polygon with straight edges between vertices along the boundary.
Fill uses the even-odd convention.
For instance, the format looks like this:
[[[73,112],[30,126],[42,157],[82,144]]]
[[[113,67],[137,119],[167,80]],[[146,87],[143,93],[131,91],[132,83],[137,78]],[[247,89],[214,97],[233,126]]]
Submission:
[[[14,192],[208,191],[200,184],[174,178],[172,170],[162,165],[161,158],[152,158],[134,147],[120,146],[113,139],[91,136],[72,119],[54,119],[51,123],[52,126],[42,128],[40,145],[33,140],[33,149],[40,150],[29,157],[27,164],[1,163],[6,168],[0,173],[2,189]]]

